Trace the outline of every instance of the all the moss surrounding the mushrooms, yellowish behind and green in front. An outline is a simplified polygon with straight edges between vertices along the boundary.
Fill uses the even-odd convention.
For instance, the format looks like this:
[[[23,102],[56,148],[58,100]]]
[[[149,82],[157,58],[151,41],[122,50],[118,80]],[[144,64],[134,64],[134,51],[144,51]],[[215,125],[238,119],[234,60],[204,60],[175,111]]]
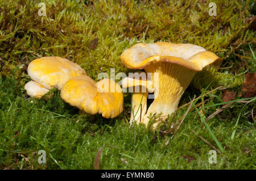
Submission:
[[[39,2],[46,3],[46,17],[38,15]],[[157,132],[152,141],[154,133],[143,125],[129,128],[130,95],[125,94],[125,111],[117,118],[96,115],[93,122],[64,103],[57,90],[52,90],[48,100],[28,98],[24,91],[24,83],[30,80],[27,66],[35,58],[68,58],[97,79],[99,70],[93,58],[104,72],[115,68],[115,73],[127,73],[131,70],[119,60],[123,50],[140,42],[170,41],[200,45],[224,60],[218,71],[209,67],[196,74],[180,105],[194,94],[200,95],[212,80],[213,87],[231,87],[238,92],[242,73],[249,66],[254,68],[248,43],[254,50],[255,33],[245,24],[253,3],[214,2],[217,16],[209,16],[208,2],[201,0],[0,1],[0,169],[93,169],[97,150],[104,145],[119,149],[104,148],[101,169],[255,169],[253,103],[243,109],[234,140],[230,136],[244,104],[234,103],[209,120],[225,148],[224,154],[217,155],[217,163],[210,165],[208,152],[212,148],[191,129],[216,145],[207,129],[201,128],[195,110],[188,113],[173,139],[172,134],[164,137]],[[96,37],[98,44],[90,50]],[[221,91],[212,92],[203,98],[211,98],[204,106],[219,103],[220,97]],[[205,108],[204,115],[220,107]],[[186,109],[170,117],[163,124],[164,131],[180,120]],[[47,153],[46,165],[37,162],[42,149]],[[182,155],[194,159],[187,163]]]

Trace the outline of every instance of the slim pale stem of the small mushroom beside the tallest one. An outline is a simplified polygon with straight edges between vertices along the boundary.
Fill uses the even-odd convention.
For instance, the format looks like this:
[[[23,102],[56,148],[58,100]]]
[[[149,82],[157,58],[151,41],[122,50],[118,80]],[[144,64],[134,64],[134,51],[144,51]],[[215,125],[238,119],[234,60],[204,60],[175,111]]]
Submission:
[[[141,123],[147,111],[147,95],[148,92],[134,92],[131,100],[131,117],[130,123],[136,121]]]

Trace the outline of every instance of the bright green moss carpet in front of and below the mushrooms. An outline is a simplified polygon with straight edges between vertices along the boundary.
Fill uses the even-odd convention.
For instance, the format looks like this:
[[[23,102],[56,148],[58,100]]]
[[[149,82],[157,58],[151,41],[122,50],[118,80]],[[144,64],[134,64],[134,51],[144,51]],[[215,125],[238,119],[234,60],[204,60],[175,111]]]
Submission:
[[[216,102],[217,99],[212,99],[205,106]],[[60,99],[59,91],[48,100],[27,98],[19,82],[3,78],[0,79],[0,168],[93,169],[97,150],[111,145],[118,149],[102,150],[101,169],[255,169],[256,132],[254,124],[248,120],[250,113],[241,115],[235,138],[230,140],[242,106],[236,104],[225,110],[224,115],[208,121],[225,148],[224,154],[217,154],[217,163],[210,165],[208,152],[212,148],[191,129],[216,145],[207,129],[201,128],[196,111],[188,113],[173,139],[172,134],[163,136],[159,132],[155,137],[143,125],[129,128],[130,124],[123,117],[125,113],[116,119],[98,116],[97,121],[88,121],[76,108]],[[178,111],[172,123],[179,120],[185,110]],[[205,115],[215,110],[215,107],[208,108],[204,110]],[[250,106],[245,108],[245,112],[248,111]],[[163,128],[168,129],[168,125]],[[46,151],[46,164],[37,162],[39,150]],[[193,160],[187,163],[182,155]]]

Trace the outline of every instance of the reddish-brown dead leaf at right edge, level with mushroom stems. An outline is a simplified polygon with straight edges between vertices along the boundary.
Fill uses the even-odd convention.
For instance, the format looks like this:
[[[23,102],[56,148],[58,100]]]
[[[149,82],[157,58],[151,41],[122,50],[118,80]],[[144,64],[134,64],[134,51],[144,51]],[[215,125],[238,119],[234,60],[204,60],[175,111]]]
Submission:
[[[250,73],[248,72],[245,75],[245,81],[242,86],[243,96],[245,98],[253,98],[256,96],[256,72]]]

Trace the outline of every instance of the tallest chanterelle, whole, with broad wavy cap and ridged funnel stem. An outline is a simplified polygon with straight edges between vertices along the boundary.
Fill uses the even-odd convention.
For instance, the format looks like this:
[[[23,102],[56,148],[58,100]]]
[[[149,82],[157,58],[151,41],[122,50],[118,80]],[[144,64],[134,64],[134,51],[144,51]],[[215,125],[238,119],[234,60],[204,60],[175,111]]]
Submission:
[[[155,99],[143,118],[147,125],[150,114],[162,113],[153,125],[175,112],[181,95],[187,89],[196,71],[201,71],[213,62],[220,64],[221,58],[192,44],[139,43],[126,49],[120,57],[123,64],[131,69],[144,69],[152,73]],[[158,78],[156,79],[156,74]]]

